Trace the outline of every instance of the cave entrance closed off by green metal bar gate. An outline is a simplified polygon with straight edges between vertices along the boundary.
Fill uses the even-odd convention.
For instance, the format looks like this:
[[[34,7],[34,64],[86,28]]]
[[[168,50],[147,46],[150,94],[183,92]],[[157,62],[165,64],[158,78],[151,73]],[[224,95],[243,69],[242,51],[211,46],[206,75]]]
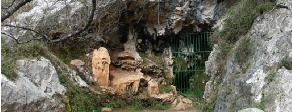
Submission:
[[[173,72],[175,75],[173,85],[178,92],[192,99],[202,99],[205,83],[208,77],[205,74],[205,61],[207,61],[212,48],[208,37],[212,32],[189,33],[174,38],[172,55],[174,56]]]

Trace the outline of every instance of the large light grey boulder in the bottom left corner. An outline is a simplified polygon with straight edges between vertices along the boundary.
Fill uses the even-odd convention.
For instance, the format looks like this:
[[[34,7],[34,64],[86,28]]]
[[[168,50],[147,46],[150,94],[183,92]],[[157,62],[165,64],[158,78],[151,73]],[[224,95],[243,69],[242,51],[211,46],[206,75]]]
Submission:
[[[1,102],[4,111],[64,111],[61,95],[65,87],[51,62],[43,57],[17,61],[15,81],[1,78]]]

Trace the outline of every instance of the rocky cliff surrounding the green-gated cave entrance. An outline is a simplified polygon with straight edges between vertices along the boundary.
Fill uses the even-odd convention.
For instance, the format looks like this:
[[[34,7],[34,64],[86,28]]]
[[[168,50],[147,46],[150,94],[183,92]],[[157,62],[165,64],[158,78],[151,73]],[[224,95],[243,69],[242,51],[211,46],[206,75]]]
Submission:
[[[25,44],[15,44],[15,40],[30,42],[39,37],[31,30],[55,40],[80,29],[86,24],[92,5],[91,1],[32,1],[3,22],[30,29],[2,27],[3,34],[9,34],[2,35],[5,48],[11,48],[9,51],[2,46],[2,55],[7,59],[2,60],[6,62],[2,66],[10,66],[9,62],[15,64],[14,69],[8,68],[17,75],[13,81],[6,76],[11,78],[14,72],[2,74],[2,111],[193,107],[194,102],[178,95],[176,87],[171,85],[172,41],[190,32],[226,28],[224,20],[231,17],[221,15],[234,3],[226,0],[98,1],[92,23],[80,35],[62,44],[25,47]],[[224,41],[234,42],[228,46],[232,49],[225,56],[224,65],[218,62],[222,46],[214,45],[206,62],[205,73],[210,81],[204,93],[206,104],[214,103],[209,105],[211,110],[237,111],[249,107],[264,111],[292,110],[289,85],[292,3],[278,0],[273,10],[263,13],[264,8],[259,7],[260,16],[255,18],[247,34]],[[244,22],[239,21],[241,26]],[[16,38],[11,38],[13,35]],[[242,48],[244,52],[238,51]],[[29,55],[23,57],[18,51]],[[8,55],[12,57],[7,58]],[[70,68],[63,61],[71,64]],[[251,110],[260,111],[255,108],[242,111]]]

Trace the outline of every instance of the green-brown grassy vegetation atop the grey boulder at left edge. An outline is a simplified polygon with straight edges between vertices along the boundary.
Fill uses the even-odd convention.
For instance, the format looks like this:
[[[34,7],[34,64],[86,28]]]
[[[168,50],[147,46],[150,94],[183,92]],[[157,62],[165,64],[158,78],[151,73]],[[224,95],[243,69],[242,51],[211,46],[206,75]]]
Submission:
[[[51,52],[41,42],[30,42],[27,44],[8,44],[1,38],[1,73],[8,79],[15,80],[17,77],[16,60],[33,59],[40,56],[51,57]]]

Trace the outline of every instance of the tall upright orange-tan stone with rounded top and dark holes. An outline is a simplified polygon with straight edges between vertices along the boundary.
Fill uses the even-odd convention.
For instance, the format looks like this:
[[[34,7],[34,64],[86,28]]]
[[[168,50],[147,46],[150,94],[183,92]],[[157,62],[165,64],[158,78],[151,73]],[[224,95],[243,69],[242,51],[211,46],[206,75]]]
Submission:
[[[100,85],[109,86],[110,75],[109,66],[111,64],[110,55],[106,48],[94,49],[92,54],[93,79]]]

